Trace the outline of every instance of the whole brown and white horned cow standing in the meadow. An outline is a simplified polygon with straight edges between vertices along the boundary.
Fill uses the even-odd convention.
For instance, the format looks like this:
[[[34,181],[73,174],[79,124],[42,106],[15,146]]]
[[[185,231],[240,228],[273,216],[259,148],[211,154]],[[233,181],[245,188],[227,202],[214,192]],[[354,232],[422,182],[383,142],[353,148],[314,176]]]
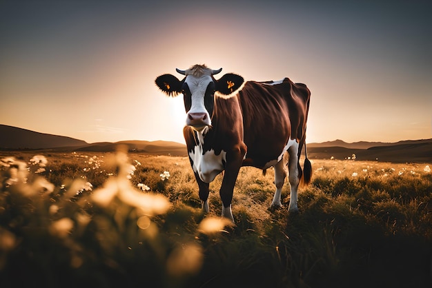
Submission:
[[[168,96],[184,96],[183,133],[204,212],[209,212],[209,183],[224,171],[219,190],[222,216],[234,222],[231,201],[242,166],[257,167],[264,174],[274,167],[276,191],[270,208],[282,207],[286,165],[291,185],[288,212],[297,212],[297,188],[300,182],[310,183],[312,174],[305,142],[311,96],[306,85],[288,78],[245,82],[232,73],[216,80],[213,75],[222,68],[212,70],[206,65],[176,70],[184,75],[182,80],[164,74],[155,83]],[[300,166],[303,146],[304,171]]]

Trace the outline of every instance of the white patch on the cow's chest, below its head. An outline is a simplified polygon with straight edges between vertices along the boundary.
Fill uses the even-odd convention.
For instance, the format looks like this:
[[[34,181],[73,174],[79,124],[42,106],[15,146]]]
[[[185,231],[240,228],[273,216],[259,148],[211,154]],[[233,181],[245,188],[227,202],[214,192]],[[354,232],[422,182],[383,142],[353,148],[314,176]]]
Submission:
[[[210,183],[215,180],[215,177],[224,171],[224,163],[226,162],[226,152],[221,151],[219,155],[215,154],[215,150],[210,150],[202,154],[202,146],[194,147],[193,152],[189,152],[189,157],[193,162],[193,171],[198,173],[199,178],[205,183]]]

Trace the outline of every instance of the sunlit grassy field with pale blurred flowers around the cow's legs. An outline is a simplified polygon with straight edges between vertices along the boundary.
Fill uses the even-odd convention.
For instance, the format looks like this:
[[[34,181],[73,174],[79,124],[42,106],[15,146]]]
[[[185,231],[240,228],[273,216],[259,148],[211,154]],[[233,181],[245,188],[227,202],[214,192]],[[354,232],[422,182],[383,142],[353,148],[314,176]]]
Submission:
[[[0,287],[431,287],[431,163],[314,160],[297,214],[244,167],[233,227],[222,176],[204,215],[186,157],[0,159]]]

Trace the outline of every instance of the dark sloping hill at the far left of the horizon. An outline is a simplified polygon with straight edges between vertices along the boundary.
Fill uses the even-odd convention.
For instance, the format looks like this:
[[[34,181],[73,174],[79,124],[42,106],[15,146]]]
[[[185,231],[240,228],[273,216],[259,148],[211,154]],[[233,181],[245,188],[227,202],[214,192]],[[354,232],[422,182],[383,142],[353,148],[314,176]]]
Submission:
[[[0,125],[0,149],[47,149],[88,145],[86,141]]]

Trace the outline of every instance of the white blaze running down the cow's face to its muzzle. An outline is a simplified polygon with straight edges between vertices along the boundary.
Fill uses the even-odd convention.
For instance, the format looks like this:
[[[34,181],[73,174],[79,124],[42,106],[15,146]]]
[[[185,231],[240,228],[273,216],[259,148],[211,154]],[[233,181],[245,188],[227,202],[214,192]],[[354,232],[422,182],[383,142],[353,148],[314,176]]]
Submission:
[[[210,75],[202,75],[200,77],[196,77],[193,75],[186,76],[185,83],[188,84],[188,88],[190,90],[191,102],[190,110],[188,111],[188,115],[186,116],[186,125],[190,125],[190,117],[191,113],[204,113],[206,117],[204,117],[204,125],[211,125],[210,114],[206,110],[206,106],[204,105],[204,96],[206,94],[207,86],[213,79]]]

